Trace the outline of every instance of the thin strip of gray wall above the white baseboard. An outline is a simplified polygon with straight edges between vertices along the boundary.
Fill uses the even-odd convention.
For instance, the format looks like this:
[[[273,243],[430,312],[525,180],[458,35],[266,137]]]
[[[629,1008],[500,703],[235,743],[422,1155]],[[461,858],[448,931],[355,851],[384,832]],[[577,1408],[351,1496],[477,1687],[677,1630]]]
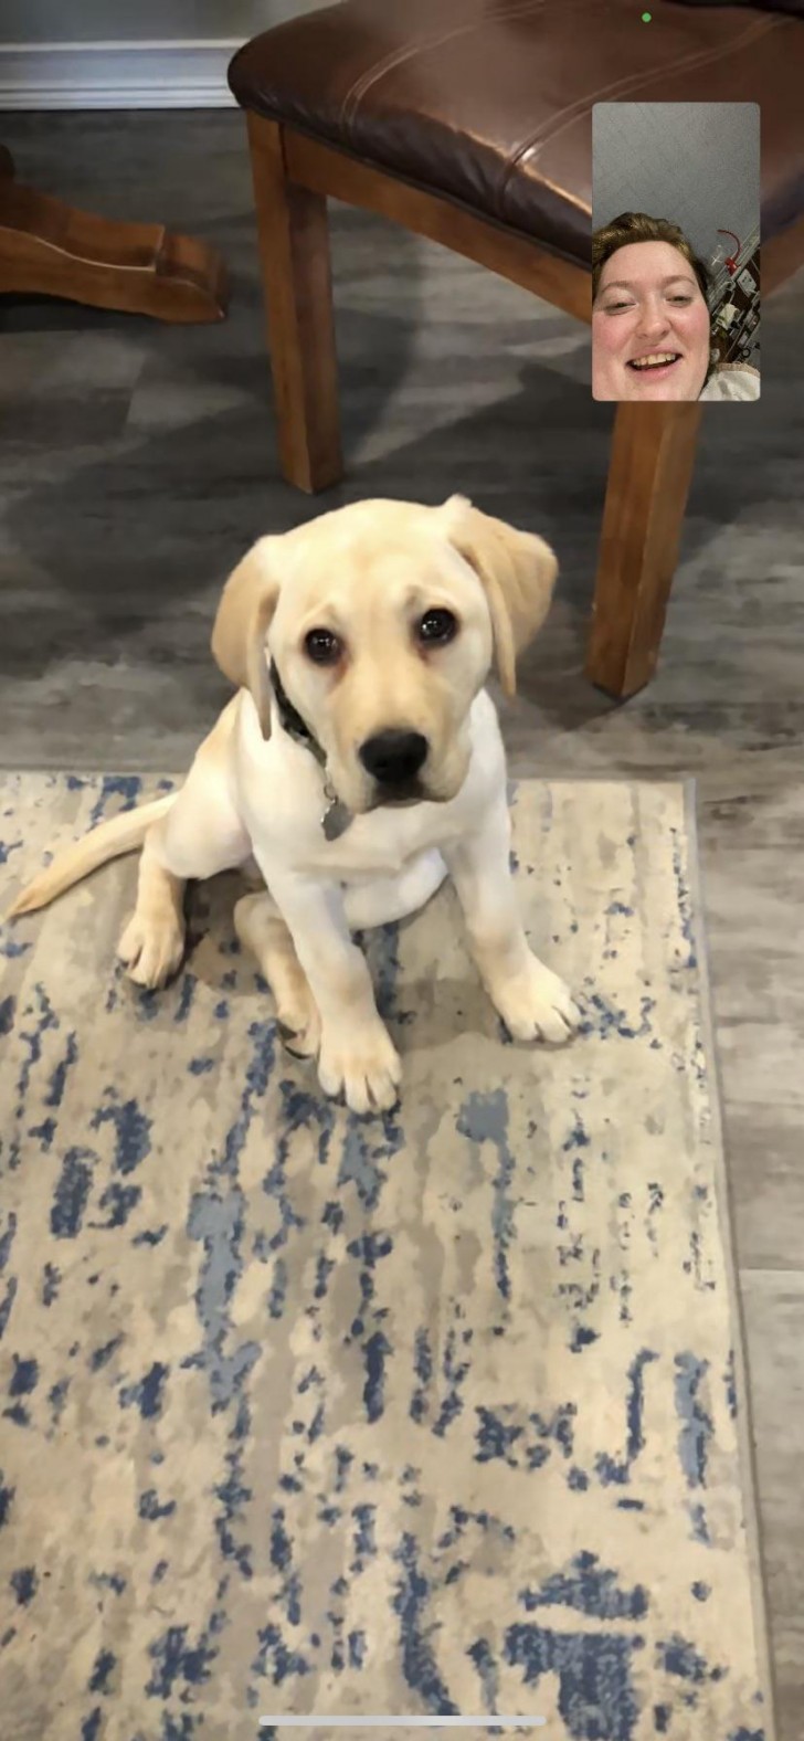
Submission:
[[[0,0],[0,44],[237,42],[317,5],[318,0]]]

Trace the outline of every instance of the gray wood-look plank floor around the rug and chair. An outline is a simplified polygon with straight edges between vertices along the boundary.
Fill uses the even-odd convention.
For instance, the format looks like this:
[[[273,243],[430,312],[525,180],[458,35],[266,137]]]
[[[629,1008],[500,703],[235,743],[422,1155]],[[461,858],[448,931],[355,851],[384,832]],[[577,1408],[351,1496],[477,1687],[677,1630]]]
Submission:
[[[707,411],[661,667],[614,709],[581,676],[611,411],[574,322],[336,207],[348,479],[308,501],[275,470],[242,118],[7,115],[0,134],[19,179],[205,235],[233,279],[218,327],[0,305],[5,766],[181,770],[226,693],[209,627],[249,541],[461,489],[562,564],[505,710],[512,768],[698,780],[780,1741],[802,1741],[804,275],[764,308],[759,406]]]

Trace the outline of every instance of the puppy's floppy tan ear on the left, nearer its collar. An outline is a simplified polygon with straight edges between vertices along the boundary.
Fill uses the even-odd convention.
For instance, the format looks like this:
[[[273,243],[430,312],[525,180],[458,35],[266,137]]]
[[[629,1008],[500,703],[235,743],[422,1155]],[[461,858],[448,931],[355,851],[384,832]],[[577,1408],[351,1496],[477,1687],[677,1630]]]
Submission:
[[[251,689],[263,736],[271,728],[265,637],[278,599],[280,538],[258,538],[230,575],[212,627],[212,658],[238,689]]]

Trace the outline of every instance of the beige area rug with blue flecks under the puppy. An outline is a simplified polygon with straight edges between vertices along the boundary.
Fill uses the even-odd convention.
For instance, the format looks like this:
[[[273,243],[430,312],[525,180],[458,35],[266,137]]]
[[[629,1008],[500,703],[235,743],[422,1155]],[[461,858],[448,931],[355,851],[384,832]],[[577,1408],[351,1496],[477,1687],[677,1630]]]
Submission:
[[[3,905],[157,785],[5,776]],[[3,1741],[771,1741],[689,794],[513,817],[585,1031],[508,1045],[442,890],[369,940],[379,1119],[278,1045],[235,879],[162,994],[132,860],[0,933]]]

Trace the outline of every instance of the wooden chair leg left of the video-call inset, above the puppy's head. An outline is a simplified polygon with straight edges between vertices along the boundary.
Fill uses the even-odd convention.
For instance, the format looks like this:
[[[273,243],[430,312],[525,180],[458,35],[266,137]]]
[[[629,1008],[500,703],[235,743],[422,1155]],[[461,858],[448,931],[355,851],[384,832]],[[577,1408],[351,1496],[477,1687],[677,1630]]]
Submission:
[[[247,122],[280,465],[313,494],[343,475],[327,200],[289,179],[277,122]]]

